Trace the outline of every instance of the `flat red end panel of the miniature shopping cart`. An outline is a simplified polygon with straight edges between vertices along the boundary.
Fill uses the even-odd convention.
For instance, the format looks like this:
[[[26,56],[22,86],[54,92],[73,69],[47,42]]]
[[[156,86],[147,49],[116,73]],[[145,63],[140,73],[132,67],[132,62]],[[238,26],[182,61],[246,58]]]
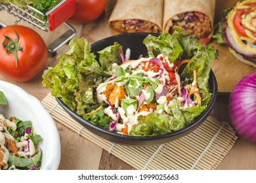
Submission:
[[[53,31],[75,14],[75,0],[66,0],[49,14],[49,29]]]

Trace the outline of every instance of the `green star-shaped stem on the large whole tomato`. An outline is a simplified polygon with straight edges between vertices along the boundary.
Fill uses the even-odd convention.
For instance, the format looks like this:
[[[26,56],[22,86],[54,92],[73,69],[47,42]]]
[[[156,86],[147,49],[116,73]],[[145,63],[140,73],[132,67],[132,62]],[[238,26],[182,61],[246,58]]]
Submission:
[[[5,39],[3,40],[3,47],[6,49],[6,52],[8,54],[13,54],[14,58],[15,58],[15,64],[16,64],[16,68],[17,68],[17,64],[18,64],[18,56],[17,56],[17,51],[22,51],[22,47],[20,45],[18,45],[18,33],[14,30],[15,34],[17,35],[16,39],[13,41],[10,37],[8,37],[7,35],[3,35],[5,37]]]

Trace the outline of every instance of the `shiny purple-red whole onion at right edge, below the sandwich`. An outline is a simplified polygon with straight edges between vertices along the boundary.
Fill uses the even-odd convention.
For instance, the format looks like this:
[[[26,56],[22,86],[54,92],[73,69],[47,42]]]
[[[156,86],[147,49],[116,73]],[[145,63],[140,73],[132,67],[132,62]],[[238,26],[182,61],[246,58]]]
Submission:
[[[244,76],[230,93],[230,120],[239,135],[256,142],[256,72]]]

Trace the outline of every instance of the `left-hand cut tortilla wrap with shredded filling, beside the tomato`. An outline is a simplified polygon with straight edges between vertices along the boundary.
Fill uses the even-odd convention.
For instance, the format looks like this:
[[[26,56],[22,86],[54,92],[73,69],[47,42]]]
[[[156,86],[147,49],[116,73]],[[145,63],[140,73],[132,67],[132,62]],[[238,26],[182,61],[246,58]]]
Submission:
[[[108,24],[120,32],[161,33],[163,1],[117,0]]]

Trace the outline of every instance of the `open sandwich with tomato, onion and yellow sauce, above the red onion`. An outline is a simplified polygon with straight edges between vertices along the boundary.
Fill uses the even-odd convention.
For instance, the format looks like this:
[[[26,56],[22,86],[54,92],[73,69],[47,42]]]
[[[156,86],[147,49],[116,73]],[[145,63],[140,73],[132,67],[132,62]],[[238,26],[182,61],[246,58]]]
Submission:
[[[213,38],[240,61],[256,67],[256,0],[240,1],[223,12]]]

